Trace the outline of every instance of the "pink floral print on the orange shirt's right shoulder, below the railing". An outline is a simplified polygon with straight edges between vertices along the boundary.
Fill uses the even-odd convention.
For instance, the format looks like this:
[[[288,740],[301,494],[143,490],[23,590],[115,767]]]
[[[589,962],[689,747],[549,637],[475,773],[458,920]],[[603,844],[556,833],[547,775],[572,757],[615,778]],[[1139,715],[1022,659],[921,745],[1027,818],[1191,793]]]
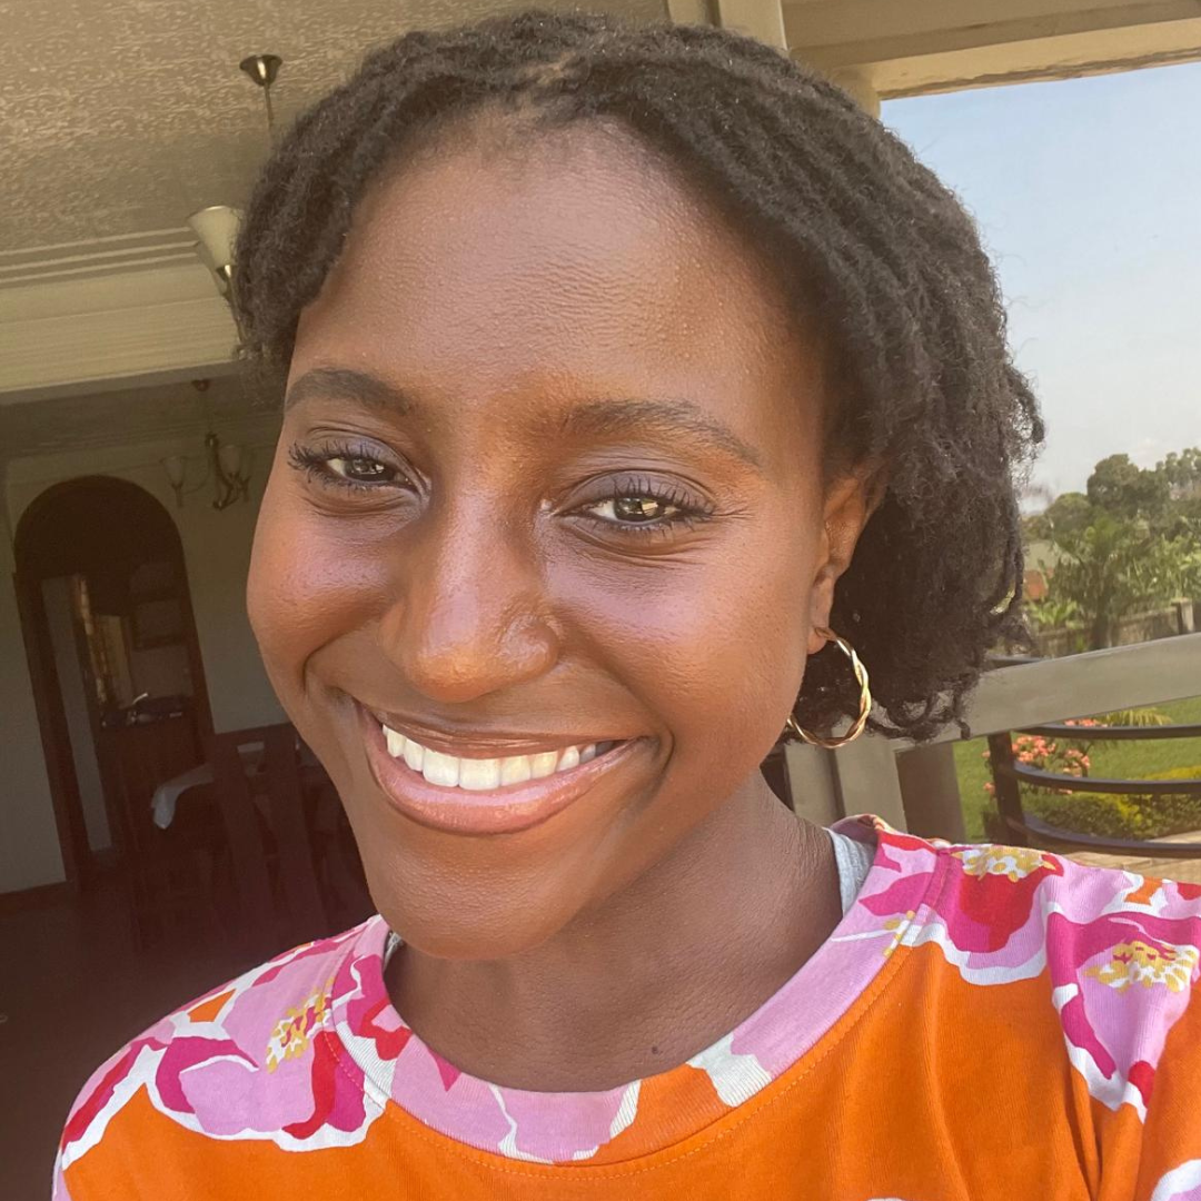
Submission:
[[[1085,867],[1030,847],[954,846],[880,830],[882,858],[937,878],[904,939],[968,984],[1030,980],[1089,1095],[1146,1117],[1165,1044],[1201,1000],[1201,885]]]

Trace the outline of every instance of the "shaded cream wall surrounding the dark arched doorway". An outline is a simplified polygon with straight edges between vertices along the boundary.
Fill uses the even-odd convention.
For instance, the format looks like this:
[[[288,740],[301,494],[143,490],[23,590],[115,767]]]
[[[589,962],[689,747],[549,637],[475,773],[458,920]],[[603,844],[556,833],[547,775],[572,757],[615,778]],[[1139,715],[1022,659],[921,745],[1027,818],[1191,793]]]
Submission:
[[[175,507],[161,460],[187,455],[189,485],[203,474],[203,436],[14,459],[7,465],[2,516],[16,530],[20,515],[47,488],[79,476],[114,476],[155,496],[175,519],[192,593],[213,722],[219,731],[283,719],[246,619],[245,586],[255,519],[274,452],[276,417],[255,418],[219,431],[253,454],[250,500],[222,513],[207,484]],[[12,588],[11,536],[2,539],[0,570],[0,892],[62,879],[49,785],[30,697],[24,644]],[[0,564],[2,567],[2,564]],[[20,849],[28,847],[28,852]]]

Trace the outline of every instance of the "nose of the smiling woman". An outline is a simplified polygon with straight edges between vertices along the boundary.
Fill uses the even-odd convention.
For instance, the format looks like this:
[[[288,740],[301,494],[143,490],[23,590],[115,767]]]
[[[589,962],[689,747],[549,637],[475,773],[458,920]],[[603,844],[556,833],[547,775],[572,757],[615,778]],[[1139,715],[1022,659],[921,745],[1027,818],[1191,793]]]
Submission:
[[[533,548],[497,524],[467,513],[432,521],[396,574],[382,650],[430,700],[477,700],[556,663],[560,640]]]

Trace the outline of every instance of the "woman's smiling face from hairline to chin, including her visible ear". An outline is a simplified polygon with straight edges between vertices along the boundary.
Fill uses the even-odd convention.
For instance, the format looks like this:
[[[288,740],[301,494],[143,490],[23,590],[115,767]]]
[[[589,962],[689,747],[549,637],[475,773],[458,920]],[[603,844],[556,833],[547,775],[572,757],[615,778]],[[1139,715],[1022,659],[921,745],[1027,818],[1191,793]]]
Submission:
[[[864,519],[793,324],[611,130],[465,136],[360,205],[250,608],[418,950],[537,945],[761,787]]]

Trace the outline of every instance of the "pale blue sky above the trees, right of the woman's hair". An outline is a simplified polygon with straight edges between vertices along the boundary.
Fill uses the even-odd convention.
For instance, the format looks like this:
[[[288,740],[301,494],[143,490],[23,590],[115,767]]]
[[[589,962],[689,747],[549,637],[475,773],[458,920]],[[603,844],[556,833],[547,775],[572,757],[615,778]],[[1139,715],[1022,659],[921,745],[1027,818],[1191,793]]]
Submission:
[[[1201,64],[889,101],[964,202],[1047,418],[1034,480],[1201,444]]]

